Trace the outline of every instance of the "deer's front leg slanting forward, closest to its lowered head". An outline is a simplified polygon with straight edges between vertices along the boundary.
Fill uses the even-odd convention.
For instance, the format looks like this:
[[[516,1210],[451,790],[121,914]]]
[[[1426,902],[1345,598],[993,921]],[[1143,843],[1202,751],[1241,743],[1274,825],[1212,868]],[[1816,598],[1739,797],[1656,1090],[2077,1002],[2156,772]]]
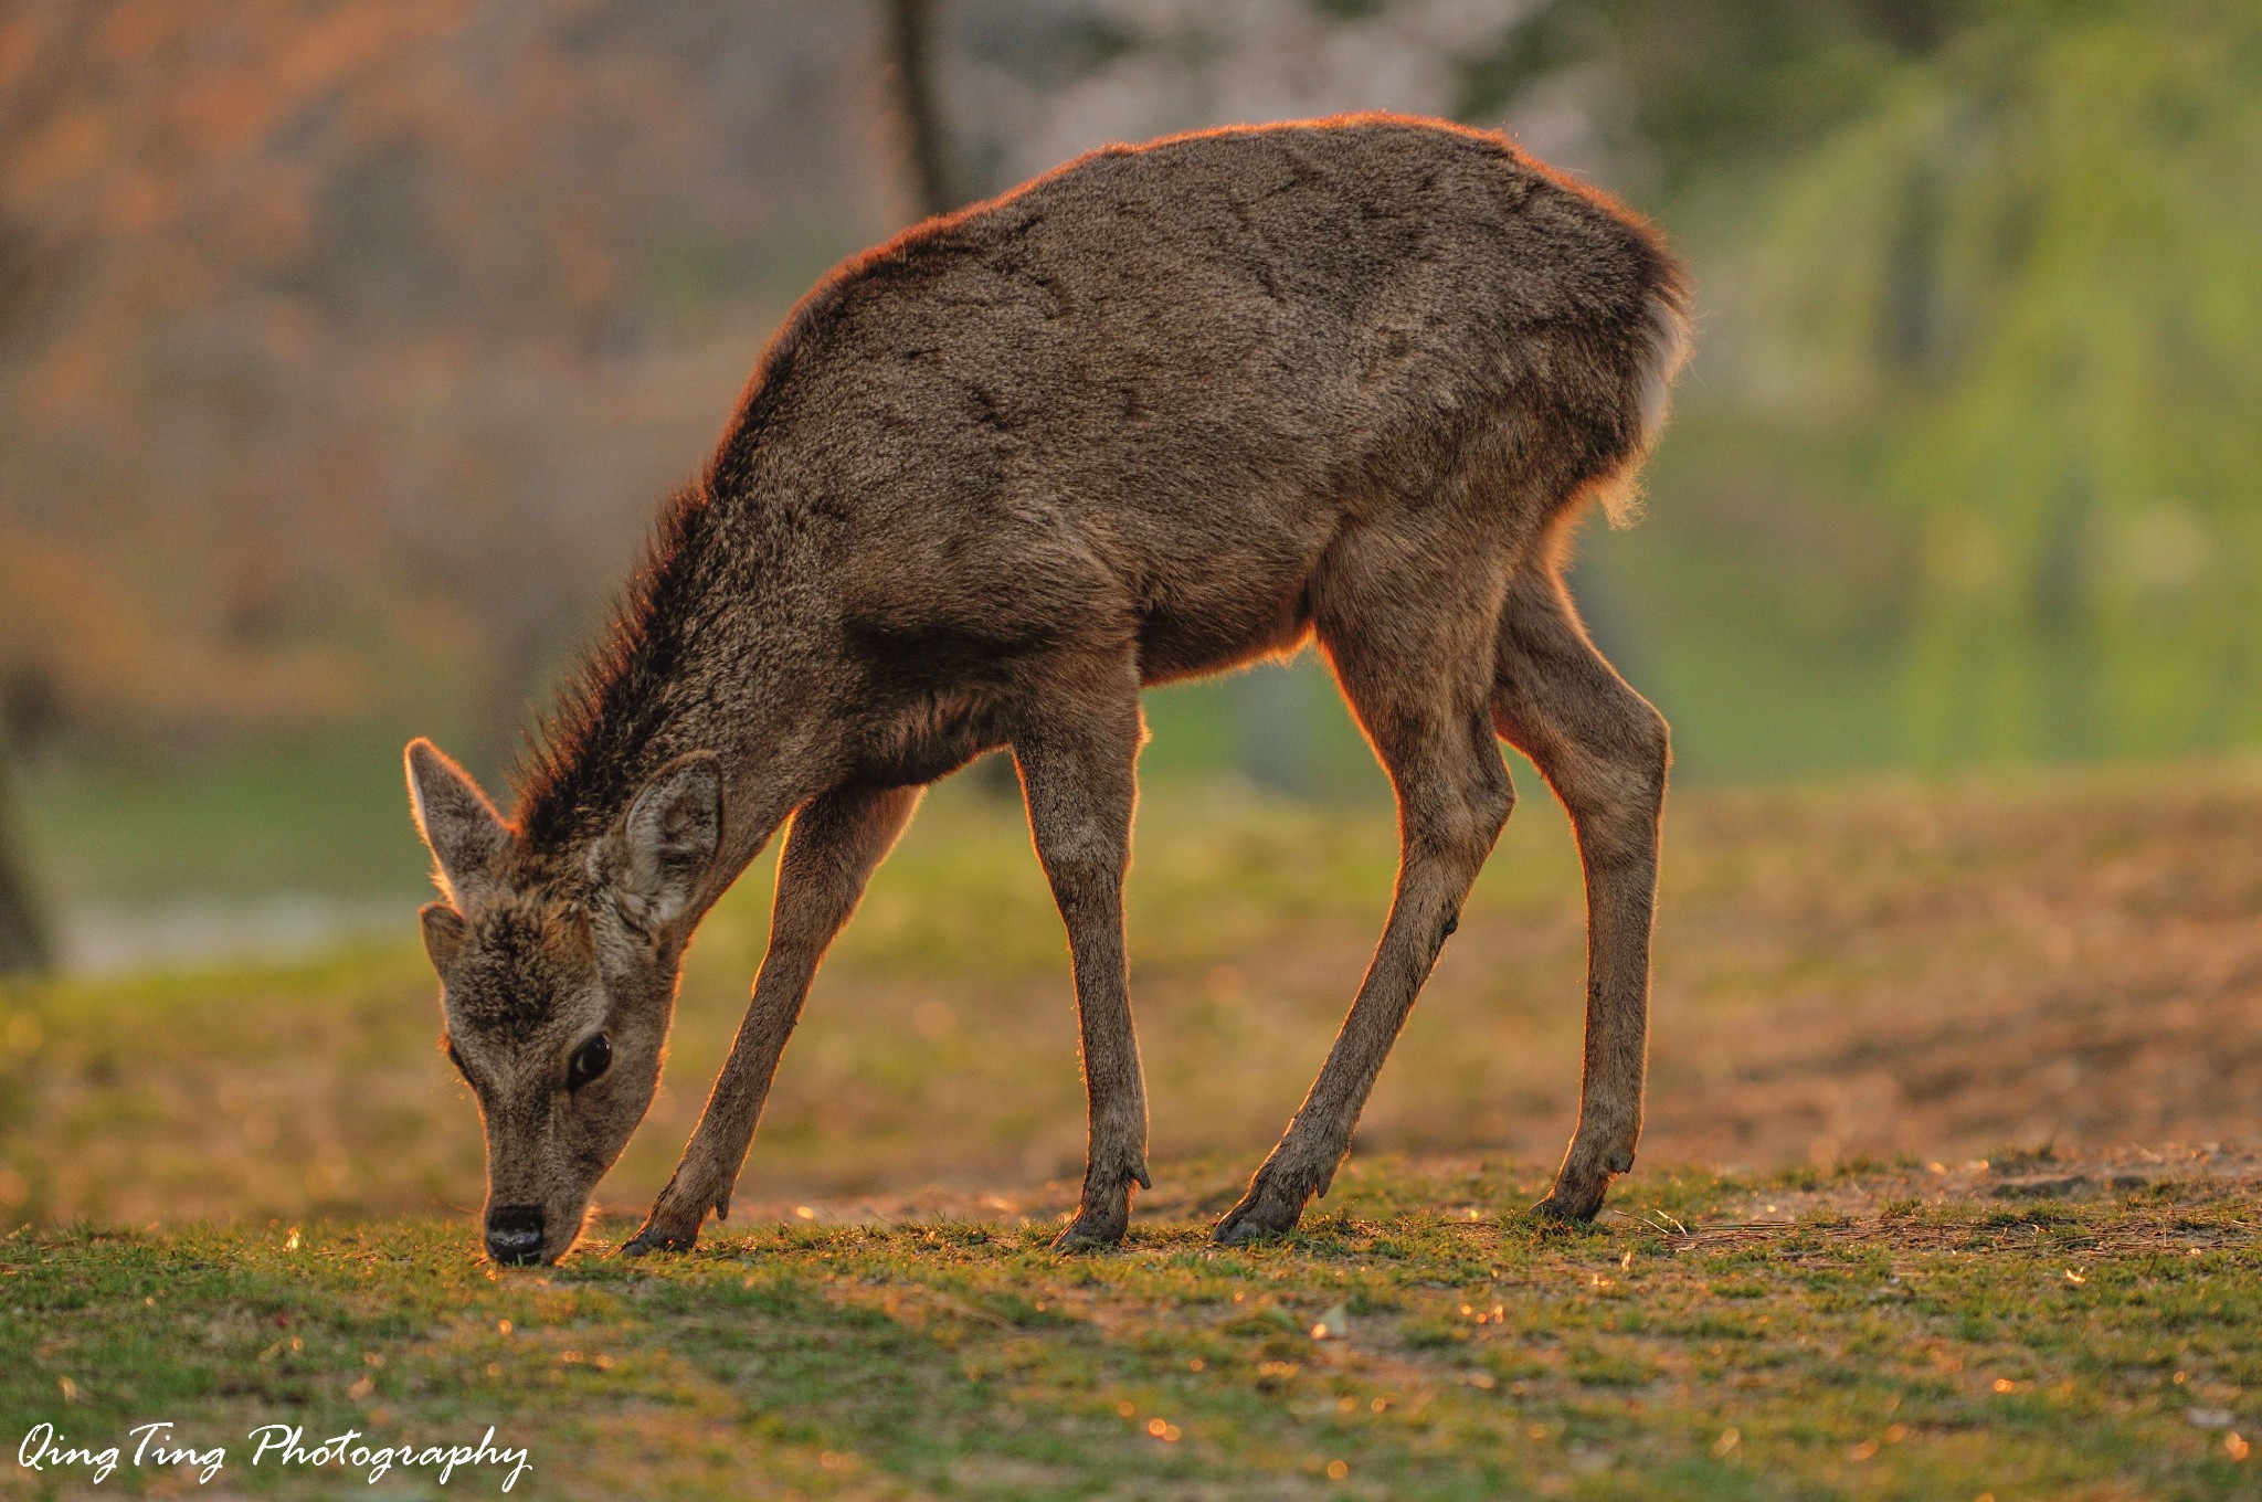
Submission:
[[[708,1210],[731,1212],[731,1190],[778,1072],[778,1054],[801,1020],[817,961],[848,923],[864,882],[918,808],[918,787],[839,789],[812,799],[785,837],[778,898],[769,918],[769,952],[753,982],[753,1002],[731,1056],[715,1077],[699,1129],[674,1176],[661,1190],[645,1228],[622,1249],[688,1251]]]

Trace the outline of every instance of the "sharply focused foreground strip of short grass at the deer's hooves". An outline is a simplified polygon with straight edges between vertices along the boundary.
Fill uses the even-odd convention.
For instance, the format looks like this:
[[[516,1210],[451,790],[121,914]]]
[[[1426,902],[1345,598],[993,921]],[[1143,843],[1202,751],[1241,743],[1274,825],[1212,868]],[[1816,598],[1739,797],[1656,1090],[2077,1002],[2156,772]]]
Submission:
[[[2034,1167],[1647,1176],[1568,1231],[1502,1212],[1531,1172],[1369,1160],[1289,1242],[1221,1251],[1233,1179],[1181,1165],[1079,1258],[1045,1251],[1065,1188],[545,1271],[484,1267],[459,1219],[23,1231],[0,1412],[129,1450],[172,1421],[244,1495],[364,1495],[253,1468],[265,1423],[495,1425],[536,1497],[2255,1495],[2255,1165]]]

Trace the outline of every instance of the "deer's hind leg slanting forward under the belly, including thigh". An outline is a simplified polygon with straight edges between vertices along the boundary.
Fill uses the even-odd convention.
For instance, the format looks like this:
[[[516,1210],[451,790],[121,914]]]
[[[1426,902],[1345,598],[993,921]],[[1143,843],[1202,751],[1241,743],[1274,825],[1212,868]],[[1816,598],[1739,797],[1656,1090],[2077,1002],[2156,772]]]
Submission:
[[[1516,803],[1491,713],[1500,572],[1450,543],[1355,534],[1314,588],[1321,645],[1398,794],[1398,889],[1326,1068],[1217,1224],[1228,1244],[1294,1228],[1305,1201],[1326,1194]]]

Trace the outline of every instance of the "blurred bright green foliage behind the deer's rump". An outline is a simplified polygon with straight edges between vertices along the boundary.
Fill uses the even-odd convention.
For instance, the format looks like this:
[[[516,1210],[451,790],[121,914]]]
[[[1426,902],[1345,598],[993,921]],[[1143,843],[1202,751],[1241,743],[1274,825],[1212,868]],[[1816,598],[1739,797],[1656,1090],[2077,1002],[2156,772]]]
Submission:
[[[1782,81],[1764,118],[1651,102],[1717,154],[1658,195],[1701,355],[1597,563],[1685,760],[2253,744],[2262,11],[2002,2],[1889,43],[1739,52],[1717,84]],[[1787,147],[1855,57],[1857,106]]]

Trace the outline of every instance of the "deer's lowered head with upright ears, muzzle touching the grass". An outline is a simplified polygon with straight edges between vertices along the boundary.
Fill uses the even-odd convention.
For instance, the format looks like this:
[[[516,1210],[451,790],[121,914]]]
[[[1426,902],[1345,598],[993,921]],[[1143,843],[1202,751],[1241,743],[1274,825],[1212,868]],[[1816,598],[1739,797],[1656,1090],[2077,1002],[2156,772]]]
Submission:
[[[722,769],[670,762],[563,862],[536,860],[432,742],[409,742],[407,769],[443,894],[423,909],[443,1043],[486,1122],[486,1253],[554,1262],[651,1106]]]

